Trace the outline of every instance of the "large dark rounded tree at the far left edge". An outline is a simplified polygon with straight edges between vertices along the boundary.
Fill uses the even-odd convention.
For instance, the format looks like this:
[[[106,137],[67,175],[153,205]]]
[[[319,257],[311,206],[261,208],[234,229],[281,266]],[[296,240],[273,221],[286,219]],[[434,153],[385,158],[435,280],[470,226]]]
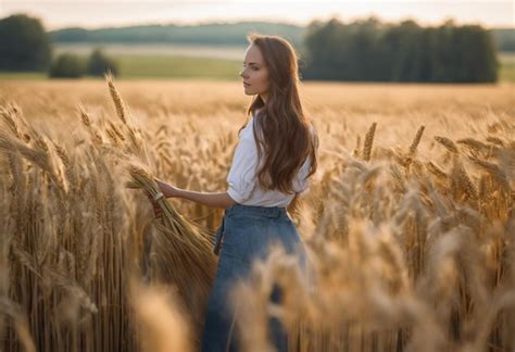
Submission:
[[[0,20],[0,70],[46,71],[51,43],[41,22],[24,14]]]

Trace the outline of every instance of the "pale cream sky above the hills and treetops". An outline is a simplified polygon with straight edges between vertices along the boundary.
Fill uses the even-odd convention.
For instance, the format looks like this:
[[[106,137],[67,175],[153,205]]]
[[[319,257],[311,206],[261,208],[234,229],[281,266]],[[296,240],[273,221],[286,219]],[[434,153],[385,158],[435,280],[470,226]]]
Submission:
[[[306,25],[338,17],[352,22],[370,15],[384,22],[412,18],[437,25],[457,24],[515,28],[515,0],[0,0],[0,17],[27,13],[47,29],[70,26],[99,28],[137,24],[279,21]]]

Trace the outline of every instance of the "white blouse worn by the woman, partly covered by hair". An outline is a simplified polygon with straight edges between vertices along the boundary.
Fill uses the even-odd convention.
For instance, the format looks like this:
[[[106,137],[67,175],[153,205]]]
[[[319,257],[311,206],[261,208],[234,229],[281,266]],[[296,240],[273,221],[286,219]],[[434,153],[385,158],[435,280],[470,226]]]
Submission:
[[[258,180],[258,169],[261,164],[258,165],[258,146],[254,140],[253,128],[254,116],[252,115],[247,126],[239,134],[239,142],[227,175],[227,193],[235,202],[243,205],[288,206],[294,194],[261,188]],[[264,155],[262,159],[264,159]],[[307,156],[292,181],[296,193],[300,193],[307,188],[306,176],[310,166],[311,156]]]

